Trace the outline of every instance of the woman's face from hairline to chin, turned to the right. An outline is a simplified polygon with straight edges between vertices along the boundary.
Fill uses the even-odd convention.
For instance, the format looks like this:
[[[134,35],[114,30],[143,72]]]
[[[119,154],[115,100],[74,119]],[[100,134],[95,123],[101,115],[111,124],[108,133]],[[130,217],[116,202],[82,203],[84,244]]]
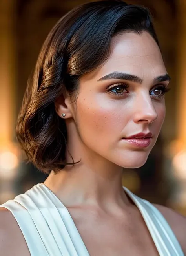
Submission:
[[[80,79],[75,122],[83,144],[119,166],[144,165],[165,117],[166,74],[147,32],[113,37],[109,59]]]

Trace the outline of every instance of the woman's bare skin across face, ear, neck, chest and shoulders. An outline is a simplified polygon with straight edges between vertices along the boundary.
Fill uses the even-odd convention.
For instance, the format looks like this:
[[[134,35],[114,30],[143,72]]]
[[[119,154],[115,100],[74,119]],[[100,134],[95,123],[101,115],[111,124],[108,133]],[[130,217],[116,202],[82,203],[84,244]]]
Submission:
[[[57,114],[60,117],[66,114],[67,161],[72,161],[69,152],[74,161],[81,161],[66,166],[58,174],[51,172],[44,184],[69,210],[90,255],[155,256],[158,252],[146,224],[124,192],[121,180],[122,168],[144,165],[157,140],[165,117],[165,100],[159,86],[166,87],[169,81],[157,83],[154,79],[167,71],[156,42],[147,32],[117,35],[111,43],[109,59],[81,77],[77,101],[73,103],[66,93],[55,102]],[[113,72],[135,75],[142,82],[100,80]],[[108,92],[108,87],[118,83],[128,85],[126,89],[112,89],[122,92],[120,97]],[[122,139],[139,132],[152,133],[148,147],[138,148]],[[186,252],[185,218],[166,207],[155,206],[165,216]],[[2,211],[8,210],[0,209],[0,216]],[[15,232],[12,232],[15,220],[8,214],[3,223],[1,219],[0,227],[6,222],[9,228],[0,229],[0,241],[8,237],[12,243],[16,233],[16,243],[24,250],[22,255],[29,255],[15,223]],[[5,254],[9,247],[4,243],[0,242],[0,248],[4,255],[11,255],[11,252]],[[16,245],[11,250],[15,256],[21,255],[20,252],[15,254]]]

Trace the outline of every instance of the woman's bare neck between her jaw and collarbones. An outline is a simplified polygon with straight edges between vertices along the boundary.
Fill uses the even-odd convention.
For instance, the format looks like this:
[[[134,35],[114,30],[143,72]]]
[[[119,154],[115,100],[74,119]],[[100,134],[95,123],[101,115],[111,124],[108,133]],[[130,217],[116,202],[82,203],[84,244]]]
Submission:
[[[74,133],[72,133],[74,134]],[[129,204],[122,187],[123,168],[87,148],[78,136],[68,139],[68,150],[75,165],[66,165],[57,174],[53,171],[44,184],[66,206],[93,205],[107,210]],[[67,162],[72,159],[67,153]]]

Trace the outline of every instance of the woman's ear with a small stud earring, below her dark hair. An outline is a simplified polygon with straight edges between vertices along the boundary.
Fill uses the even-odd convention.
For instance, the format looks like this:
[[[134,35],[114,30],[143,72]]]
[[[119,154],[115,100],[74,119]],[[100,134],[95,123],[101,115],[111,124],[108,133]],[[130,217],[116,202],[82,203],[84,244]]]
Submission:
[[[62,93],[55,102],[55,110],[59,117],[62,117],[62,114],[65,114],[63,118],[73,117],[73,105],[71,103],[71,98],[68,96],[64,97]]]

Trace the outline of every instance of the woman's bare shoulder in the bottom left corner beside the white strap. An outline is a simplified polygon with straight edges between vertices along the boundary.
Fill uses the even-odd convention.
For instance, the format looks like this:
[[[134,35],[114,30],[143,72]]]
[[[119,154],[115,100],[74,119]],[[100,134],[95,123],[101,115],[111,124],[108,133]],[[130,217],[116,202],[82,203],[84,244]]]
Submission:
[[[4,256],[30,256],[16,219],[4,207],[0,207],[0,252]]]

